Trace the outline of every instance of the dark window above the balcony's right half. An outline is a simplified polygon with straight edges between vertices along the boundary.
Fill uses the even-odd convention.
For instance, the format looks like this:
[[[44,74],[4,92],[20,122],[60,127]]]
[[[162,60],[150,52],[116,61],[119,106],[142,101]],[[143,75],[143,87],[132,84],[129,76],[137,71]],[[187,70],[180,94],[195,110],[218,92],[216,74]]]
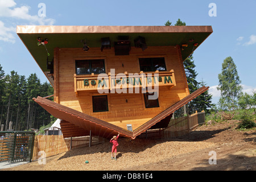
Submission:
[[[141,57],[139,67],[143,72],[166,71],[166,62],[164,57]]]

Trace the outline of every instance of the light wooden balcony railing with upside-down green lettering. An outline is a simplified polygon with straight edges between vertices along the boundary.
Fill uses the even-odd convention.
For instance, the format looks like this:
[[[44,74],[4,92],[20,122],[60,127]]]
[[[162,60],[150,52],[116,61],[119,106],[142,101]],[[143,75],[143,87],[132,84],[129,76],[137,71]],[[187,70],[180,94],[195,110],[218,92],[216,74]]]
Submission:
[[[170,72],[109,73],[99,75],[74,75],[75,92],[82,90],[113,90],[125,88],[152,88],[154,86],[176,86],[174,70]]]

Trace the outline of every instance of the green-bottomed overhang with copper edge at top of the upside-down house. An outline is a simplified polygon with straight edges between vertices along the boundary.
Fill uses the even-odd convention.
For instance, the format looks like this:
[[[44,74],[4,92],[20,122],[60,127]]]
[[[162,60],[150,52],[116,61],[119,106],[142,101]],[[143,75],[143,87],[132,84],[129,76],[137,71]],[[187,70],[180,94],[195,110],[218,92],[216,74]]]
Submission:
[[[101,38],[109,37],[114,44],[121,35],[129,36],[131,46],[134,46],[133,40],[138,36],[146,39],[147,46],[188,44],[181,51],[182,59],[185,60],[212,32],[212,26],[17,26],[16,31],[46,76],[49,73],[47,52],[44,46],[38,46],[38,37],[49,39],[46,47],[50,60],[56,47],[82,49],[83,39],[86,39],[89,47],[101,47]],[[189,42],[191,39],[194,41]],[[194,47],[193,43],[198,45]],[[50,77],[47,78],[52,83]]]

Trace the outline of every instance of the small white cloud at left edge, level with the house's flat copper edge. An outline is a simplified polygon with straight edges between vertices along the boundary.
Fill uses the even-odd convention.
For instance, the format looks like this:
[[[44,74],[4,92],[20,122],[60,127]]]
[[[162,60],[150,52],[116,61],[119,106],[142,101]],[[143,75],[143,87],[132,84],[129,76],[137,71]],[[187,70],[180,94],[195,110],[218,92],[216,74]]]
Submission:
[[[5,23],[0,20],[0,40],[4,42],[15,43],[14,33],[16,28],[14,27],[5,27]]]

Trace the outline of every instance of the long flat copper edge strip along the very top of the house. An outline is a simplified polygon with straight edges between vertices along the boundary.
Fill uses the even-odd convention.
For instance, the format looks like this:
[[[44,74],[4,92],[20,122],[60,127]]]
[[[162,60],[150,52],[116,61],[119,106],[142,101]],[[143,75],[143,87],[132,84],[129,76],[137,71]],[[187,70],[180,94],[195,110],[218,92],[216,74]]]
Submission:
[[[17,26],[17,34],[212,32],[212,26]]]

